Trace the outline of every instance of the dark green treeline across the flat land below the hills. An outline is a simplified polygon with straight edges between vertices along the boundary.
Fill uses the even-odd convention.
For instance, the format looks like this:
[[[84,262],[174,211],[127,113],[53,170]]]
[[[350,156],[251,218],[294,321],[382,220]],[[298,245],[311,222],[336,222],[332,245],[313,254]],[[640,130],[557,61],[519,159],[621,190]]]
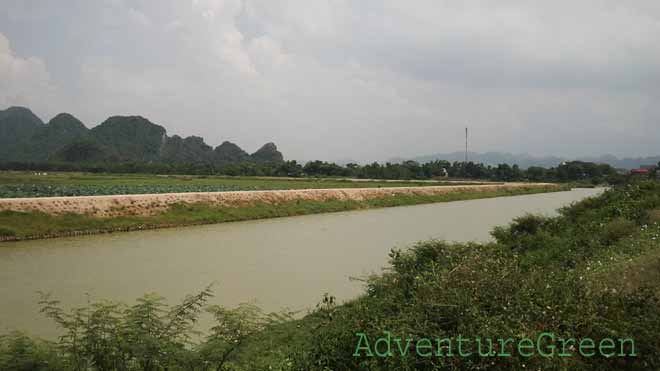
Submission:
[[[217,166],[208,163],[70,163],[70,162],[5,162],[3,170],[30,171],[83,171],[92,173],[147,173],[230,176],[280,176],[280,177],[346,177],[359,179],[411,179],[464,178],[494,181],[545,181],[620,183],[626,175],[620,174],[607,164],[571,161],[556,167],[530,167],[518,165],[484,165],[474,162],[431,161],[419,164],[415,161],[402,163],[372,163],[368,165],[337,165],[331,162],[310,161],[302,165],[296,161],[280,163],[244,162]],[[655,172],[651,174],[655,176]]]

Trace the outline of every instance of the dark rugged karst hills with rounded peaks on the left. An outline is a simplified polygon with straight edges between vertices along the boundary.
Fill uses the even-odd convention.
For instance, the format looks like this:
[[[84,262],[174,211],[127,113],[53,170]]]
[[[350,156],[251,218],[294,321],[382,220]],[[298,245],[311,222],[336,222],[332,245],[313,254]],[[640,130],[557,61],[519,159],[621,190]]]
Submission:
[[[88,129],[68,113],[45,124],[24,107],[0,110],[0,161],[162,162],[225,165],[279,163],[282,153],[266,143],[252,155],[231,142],[215,149],[197,136],[169,137],[142,116],[112,116]]]

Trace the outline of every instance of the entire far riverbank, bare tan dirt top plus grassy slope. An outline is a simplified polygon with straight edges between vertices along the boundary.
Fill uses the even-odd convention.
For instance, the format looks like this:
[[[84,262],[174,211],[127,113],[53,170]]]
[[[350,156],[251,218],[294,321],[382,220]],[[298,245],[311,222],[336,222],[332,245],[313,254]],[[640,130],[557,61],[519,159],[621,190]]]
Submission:
[[[212,224],[564,190],[545,183],[0,199],[0,241]]]

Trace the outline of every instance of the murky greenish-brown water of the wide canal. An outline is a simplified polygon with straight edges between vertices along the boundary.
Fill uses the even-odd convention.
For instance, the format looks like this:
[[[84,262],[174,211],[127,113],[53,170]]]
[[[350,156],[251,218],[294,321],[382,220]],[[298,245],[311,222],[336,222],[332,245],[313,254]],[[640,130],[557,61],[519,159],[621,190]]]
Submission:
[[[362,284],[349,278],[379,272],[393,247],[431,238],[486,241],[494,226],[517,216],[552,215],[558,207],[600,192],[574,189],[2,243],[0,333],[19,329],[46,338],[57,334],[39,313],[38,291],[52,293],[67,308],[94,299],[132,303],[146,292],[176,303],[216,282],[213,304],[256,301],[265,310],[305,313],[325,292],[339,301],[359,295]]]

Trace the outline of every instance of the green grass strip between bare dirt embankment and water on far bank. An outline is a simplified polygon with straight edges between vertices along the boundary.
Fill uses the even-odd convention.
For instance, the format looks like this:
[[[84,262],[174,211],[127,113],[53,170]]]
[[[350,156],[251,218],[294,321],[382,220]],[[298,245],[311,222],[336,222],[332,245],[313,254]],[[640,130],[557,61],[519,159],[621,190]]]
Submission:
[[[79,234],[143,230],[174,226],[213,224],[308,215],[379,207],[418,205],[489,197],[503,197],[564,190],[563,187],[511,188],[457,191],[435,195],[395,194],[364,200],[294,200],[252,202],[240,207],[221,207],[202,203],[175,204],[151,216],[99,218],[82,214],[50,215],[42,212],[0,211],[0,240],[49,238]]]

